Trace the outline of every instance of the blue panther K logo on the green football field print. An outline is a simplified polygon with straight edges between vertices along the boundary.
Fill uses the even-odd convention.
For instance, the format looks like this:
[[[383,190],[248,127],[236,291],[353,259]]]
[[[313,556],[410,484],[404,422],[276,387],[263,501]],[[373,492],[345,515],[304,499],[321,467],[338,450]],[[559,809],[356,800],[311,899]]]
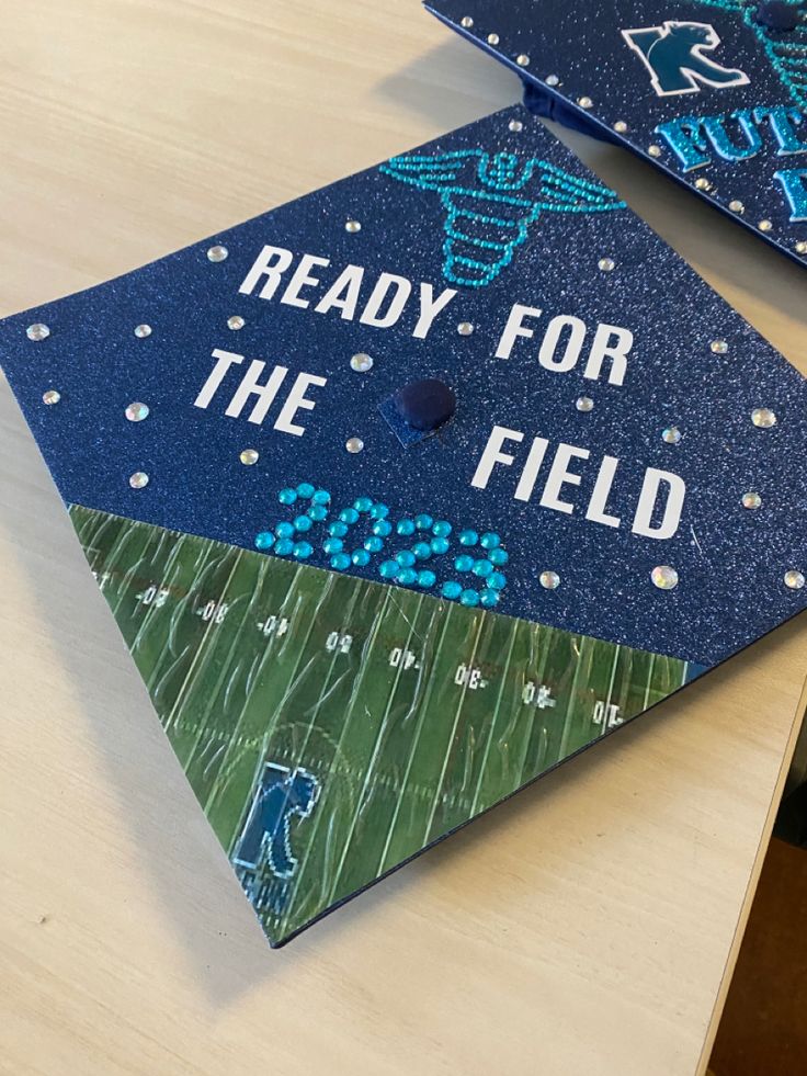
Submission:
[[[293,817],[307,818],[319,796],[319,782],[307,770],[268,762],[232,854],[241,884],[258,910],[279,914],[297,870],[292,852]]]

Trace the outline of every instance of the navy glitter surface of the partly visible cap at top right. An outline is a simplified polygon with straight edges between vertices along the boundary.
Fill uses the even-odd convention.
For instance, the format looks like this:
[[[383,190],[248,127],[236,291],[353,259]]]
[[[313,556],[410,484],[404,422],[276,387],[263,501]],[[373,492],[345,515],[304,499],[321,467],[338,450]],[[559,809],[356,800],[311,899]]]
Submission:
[[[807,103],[807,9],[798,0],[791,3],[797,9],[798,24],[789,33],[760,25],[754,18],[755,0],[683,0],[672,8],[663,0],[607,4],[568,0],[427,0],[425,7],[537,90],[537,98],[533,93],[527,100],[536,102],[542,115],[552,115],[568,126],[633,149],[805,265],[807,220],[791,219],[791,205],[775,173],[783,165],[796,170],[807,167],[807,156],[793,156],[793,150],[783,156],[770,122],[762,120],[755,124],[762,149],[753,157],[732,162],[712,151],[707,166],[684,173],[659,132],[661,125],[682,116],[730,117],[742,110],[753,113],[782,106],[793,110],[791,126],[807,150],[807,123],[803,122]],[[658,95],[648,68],[623,38],[622,31],[663,27],[671,20],[712,26],[720,42],[706,50],[705,57],[741,70],[748,81],[719,88],[698,83],[695,92]],[[491,34],[496,44],[488,41]],[[528,57],[527,66],[516,63],[521,55]],[[557,84],[546,83],[549,76],[555,76]],[[582,98],[591,100],[591,107],[579,106]],[[626,129],[615,132],[617,122]],[[728,118],[727,129],[735,145],[743,146],[741,117]],[[659,148],[658,156],[648,154],[651,146]],[[700,186],[695,186],[697,181]],[[807,185],[807,175],[795,182]],[[730,209],[732,202],[741,203],[742,209]],[[759,229],[762,220],[771,223],[770,230]],[[797,243],[804,247],[797,249]]]

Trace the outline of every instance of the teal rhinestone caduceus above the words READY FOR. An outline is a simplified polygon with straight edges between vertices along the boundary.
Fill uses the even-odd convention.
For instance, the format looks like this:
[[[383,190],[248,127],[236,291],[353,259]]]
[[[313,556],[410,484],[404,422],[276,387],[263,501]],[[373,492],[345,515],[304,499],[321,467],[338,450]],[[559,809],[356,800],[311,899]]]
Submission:
[[[526,241],[542,213],[624,209],[606,186],[518,154],[461,149],[432,157],[393,157],[382,172],[440,194],[445,219],[443,275],[453,284],[484,287],[496,280]]]

